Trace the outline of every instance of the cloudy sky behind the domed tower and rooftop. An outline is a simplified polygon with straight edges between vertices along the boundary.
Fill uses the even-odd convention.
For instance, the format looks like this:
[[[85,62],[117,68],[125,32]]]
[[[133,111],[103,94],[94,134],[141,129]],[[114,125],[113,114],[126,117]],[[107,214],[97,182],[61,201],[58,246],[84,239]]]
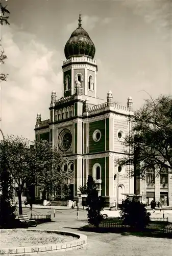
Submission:
[[[5,2],[5,0],[2,0]],[[95,45],[97,96],[140,108],[151,95],[172,93],[171,0],[8,0],[10,26],[1,26],[8,56],[1,71],[5,135],[34,140],[36,114],[49,118],[51,92],[62,97],[64,46],[78,27]]]

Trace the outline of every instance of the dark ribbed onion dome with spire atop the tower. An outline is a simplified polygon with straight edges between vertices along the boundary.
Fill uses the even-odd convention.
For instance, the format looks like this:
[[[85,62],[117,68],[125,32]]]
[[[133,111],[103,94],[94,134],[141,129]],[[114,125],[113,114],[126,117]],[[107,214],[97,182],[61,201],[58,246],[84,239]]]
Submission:
[[[72,32],[69,40],[66,42],[64,48],[65,57],[66,59],[69,59],[71,57],[87,56],[93,59],[95,55],[95,46],[87,31],[82,28],[81,14],[78,21],[78,28]]]

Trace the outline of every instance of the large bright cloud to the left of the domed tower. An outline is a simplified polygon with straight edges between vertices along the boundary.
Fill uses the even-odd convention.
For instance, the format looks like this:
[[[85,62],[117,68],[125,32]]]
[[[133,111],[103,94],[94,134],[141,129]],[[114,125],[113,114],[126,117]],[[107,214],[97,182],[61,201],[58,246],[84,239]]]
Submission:
[[[8,56],[3,72],[9,77],[2,83],[2,129],[5,135],[34,139],[37,112],[48,119],[52,90],[62,96],[61,61],[57,61],[62,56],[14,25],[3,30]]]

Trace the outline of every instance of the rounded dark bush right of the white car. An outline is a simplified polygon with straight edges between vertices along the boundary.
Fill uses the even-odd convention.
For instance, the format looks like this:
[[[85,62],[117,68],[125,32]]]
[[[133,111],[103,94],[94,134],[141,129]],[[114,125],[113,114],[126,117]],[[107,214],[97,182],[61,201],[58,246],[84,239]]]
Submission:
[[[137,196],[132,201],[125,200],[121,209],[121,219],[124,225],[143,230],[150,221],[150,212],[147,212],[145,205],[140,203]]]

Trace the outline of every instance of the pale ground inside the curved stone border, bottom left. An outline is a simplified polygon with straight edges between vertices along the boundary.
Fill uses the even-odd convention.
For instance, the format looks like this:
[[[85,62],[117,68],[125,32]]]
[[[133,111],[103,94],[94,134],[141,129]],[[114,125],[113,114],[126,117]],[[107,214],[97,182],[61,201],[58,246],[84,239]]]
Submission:
[[[77,238],[71,236],[63,236],[56,233],[46,233],[40,231],[27,230],[1,230],[0,244],[1,248],[24,247],[32,245],[44,245],[54,243],[64,243]]]

